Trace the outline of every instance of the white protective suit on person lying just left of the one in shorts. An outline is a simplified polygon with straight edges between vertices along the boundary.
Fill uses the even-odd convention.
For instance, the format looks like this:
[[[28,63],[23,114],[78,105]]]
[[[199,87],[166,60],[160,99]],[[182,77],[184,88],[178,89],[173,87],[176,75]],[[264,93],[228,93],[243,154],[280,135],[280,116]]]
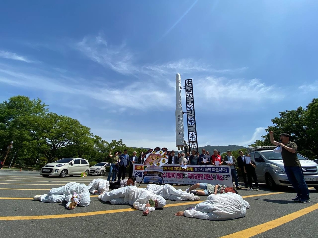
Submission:
[[[182,191],[181,189],[176,190],[176,188],[172,187],[170,184],[148,184],[146,189],[156,195],[162,196],[164,199],[172,201],[195,200],[195,195],[193,193],[187,193]]]

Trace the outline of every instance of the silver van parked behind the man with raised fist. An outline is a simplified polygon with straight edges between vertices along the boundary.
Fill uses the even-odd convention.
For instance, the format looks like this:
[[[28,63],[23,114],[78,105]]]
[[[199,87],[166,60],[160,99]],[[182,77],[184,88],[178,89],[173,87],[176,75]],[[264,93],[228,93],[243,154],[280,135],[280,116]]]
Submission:
[[[281,153],[275,153],[276,146],[257,146],[247,148],[246,154],[256,163],[256,175],[259,182],[265,182],[271,189],[277,186],[291,186],[287,179]],[[297,153],[306,183],[318,190],[318,164]]]

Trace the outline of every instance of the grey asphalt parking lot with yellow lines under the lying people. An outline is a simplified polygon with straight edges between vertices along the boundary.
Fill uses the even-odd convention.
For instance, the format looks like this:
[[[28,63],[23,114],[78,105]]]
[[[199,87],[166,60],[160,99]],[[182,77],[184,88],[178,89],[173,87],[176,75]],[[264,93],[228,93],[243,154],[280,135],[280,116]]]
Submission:
[[[81,178],[44,178],[38,172],[0,170],[0,234],[1,237],[317,237],[318,193],[310,189],[311,203],[293,202],[292,188],[280,191],[239,190],[250,203],[243,218],[230,221],[205,221],[177,217],[177,211],[194,206],[197,201],[167,200],[160,210],[143,216],[128,205],[111,205],[91,197],[88,207],[65,209],[65,203],[33,201],[36,194],[67,182],[86,185],[96,176]],[[106,178],[106,177],[105,177]],[[141,187],[145,187],[144,184]],[[175,186],[186,189],[189,186]],[[205,200],[202,196],[201,200]]]

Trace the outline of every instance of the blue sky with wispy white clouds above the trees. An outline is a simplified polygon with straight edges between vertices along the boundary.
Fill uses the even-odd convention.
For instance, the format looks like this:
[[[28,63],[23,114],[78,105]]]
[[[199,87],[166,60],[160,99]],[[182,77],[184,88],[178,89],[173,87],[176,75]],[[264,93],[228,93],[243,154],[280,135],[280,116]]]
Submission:
[[[2,2],[0,101],[39,97],[107,141],[171,150],[180,73],[193,79],[199,146],[247,146],[317,97],[317,12],[317,1]]]

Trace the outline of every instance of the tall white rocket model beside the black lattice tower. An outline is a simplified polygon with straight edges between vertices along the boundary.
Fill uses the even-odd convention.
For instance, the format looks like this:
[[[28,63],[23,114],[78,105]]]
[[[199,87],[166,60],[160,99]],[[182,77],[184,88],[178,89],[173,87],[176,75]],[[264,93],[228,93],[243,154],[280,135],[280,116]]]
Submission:
[[[184,129],[183,129],[183,111],[181,103],[181,76],[176,74],[176,147],[183,150]]]

